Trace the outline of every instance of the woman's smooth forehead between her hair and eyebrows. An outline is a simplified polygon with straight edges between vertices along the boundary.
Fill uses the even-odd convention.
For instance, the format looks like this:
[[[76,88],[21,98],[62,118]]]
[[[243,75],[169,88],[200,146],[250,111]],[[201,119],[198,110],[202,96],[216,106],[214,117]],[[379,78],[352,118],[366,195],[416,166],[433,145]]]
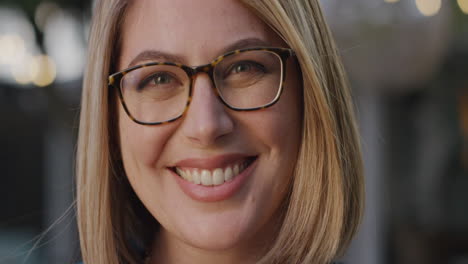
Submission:
[[[144,50],[174,54],[184,58],[181,63],[197,65],[242,39],[282,45],[273,30],[235,0],[131,1],[124,21],[121,68]]]

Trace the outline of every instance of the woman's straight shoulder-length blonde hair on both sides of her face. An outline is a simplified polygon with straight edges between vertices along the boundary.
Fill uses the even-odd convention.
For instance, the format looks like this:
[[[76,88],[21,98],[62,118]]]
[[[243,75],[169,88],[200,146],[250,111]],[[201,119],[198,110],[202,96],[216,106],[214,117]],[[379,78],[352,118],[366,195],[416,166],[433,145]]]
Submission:
[[[339,54],[316,0],[243,2],[296,52],[303,78],[303,133],[295,176],[277,239],[259,262],[328,263],[355,234],[364,196],[361,151]],[[138,226],[158,228],[124,175],[116,98],[107,88],[125,9],[119,0],[97,1],[94,7],[77,154],[85,263],[139,263],[129,241],[150,239],[142,237]]]

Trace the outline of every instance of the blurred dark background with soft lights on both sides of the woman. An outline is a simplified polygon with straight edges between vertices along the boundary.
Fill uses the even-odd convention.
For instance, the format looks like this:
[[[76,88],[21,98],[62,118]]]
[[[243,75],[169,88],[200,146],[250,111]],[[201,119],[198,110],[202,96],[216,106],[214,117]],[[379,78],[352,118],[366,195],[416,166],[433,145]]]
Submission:
[[[468,0],[321,2],[366,166],[366,215],[343,261],[467,264]],[[90,0],[0,1],[0,263],[79,259],[73,157],[90,14]]]

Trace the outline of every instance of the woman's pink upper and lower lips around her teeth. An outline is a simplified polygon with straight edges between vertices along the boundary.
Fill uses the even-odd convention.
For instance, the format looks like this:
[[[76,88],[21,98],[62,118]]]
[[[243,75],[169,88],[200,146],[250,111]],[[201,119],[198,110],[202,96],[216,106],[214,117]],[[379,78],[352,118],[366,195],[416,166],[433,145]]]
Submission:
[[[216,156],[209,159],[185,159],[177,162],[174,167],[180,168],[198,168],[198,169],[215,169],[223,168],[239,160],[246,160],[251,157],[240,154],[230,154]],[[176,182],[182,191],[190,198],[201,202],[217,202],[226,200],[232,197],[242,187],[242,185],[252,174],[256,165],[256,159],[250,163],[239,175],[234,177],[231,181],[224,182],[217,186],[204,186],[189,182],[180,177],[172,169],[169,171],[175,177]]]

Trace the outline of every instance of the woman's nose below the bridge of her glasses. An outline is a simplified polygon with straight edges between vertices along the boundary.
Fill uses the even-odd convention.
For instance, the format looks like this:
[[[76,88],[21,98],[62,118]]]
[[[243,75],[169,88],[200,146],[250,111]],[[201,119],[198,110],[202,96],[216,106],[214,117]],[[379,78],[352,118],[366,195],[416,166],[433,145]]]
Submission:
[[[234,120],[219,100],[206,73],[199,73],[192,85],[192,98],[181,124],[182,131],[191,143],[212,146],[233,131]]]

